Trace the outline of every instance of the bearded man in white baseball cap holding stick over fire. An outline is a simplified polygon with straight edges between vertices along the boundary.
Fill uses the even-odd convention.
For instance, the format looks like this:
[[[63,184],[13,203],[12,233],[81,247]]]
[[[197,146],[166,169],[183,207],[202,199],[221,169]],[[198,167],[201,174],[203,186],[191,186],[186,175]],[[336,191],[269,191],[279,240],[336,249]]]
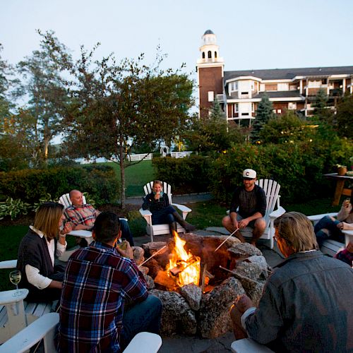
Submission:
[[[232,203],[230,204],[229,216],[222,220],[222,225],[235,236],[245,242],[241,235],[241,229],[245,227],[253,228],[253,238],[251,244],[255,245],[258,238],[265,231],[266,222],[264,220],[266,212],[266,195],[263,189],[255,184],[256,172],[253,169],[245,169],[243,172],[243,185],[234,191]],[[239,208],[239,210],[238,210]]]

